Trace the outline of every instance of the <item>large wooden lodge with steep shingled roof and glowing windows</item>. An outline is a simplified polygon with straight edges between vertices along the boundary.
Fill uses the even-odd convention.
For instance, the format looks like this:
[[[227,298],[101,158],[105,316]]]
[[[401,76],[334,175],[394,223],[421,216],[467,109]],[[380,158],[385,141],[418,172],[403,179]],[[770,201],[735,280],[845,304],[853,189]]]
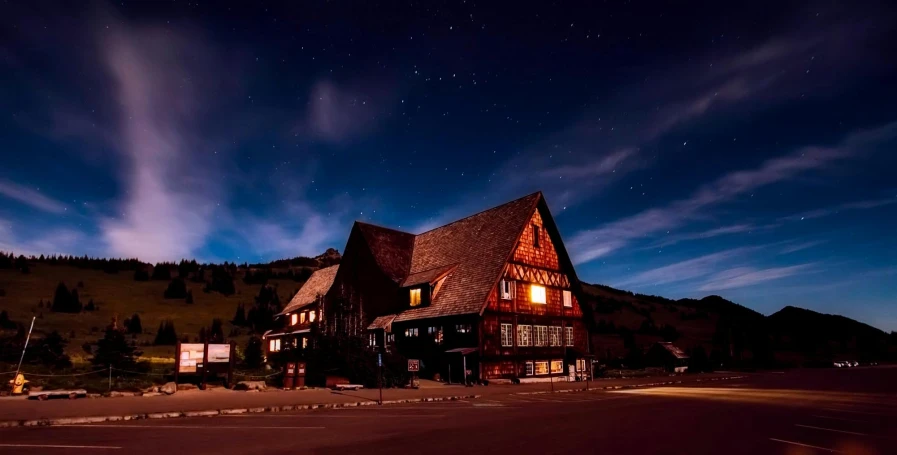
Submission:
[[[417,235],[356,222],[334,269],[315,300],[324,330],[419,358],[423,375],[458,381],[466,369],[471,379],[492,380],[585,370],[579,281],[542,193]],[[320,294],[321,283],[311,282]],[[311,291],[304,286],[299,300]],[[288,318],[307,308],[293,301]]]

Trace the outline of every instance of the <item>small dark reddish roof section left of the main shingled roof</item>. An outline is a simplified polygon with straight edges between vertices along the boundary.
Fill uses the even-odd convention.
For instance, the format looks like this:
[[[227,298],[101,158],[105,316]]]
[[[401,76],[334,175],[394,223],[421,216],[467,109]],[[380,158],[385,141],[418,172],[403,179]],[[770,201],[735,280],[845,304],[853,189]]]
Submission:
[[[371,249],[380,270],[396,283],[408,276],[411,266],[411,251],[414,248],[414,234],[373,224],[355,222]]]

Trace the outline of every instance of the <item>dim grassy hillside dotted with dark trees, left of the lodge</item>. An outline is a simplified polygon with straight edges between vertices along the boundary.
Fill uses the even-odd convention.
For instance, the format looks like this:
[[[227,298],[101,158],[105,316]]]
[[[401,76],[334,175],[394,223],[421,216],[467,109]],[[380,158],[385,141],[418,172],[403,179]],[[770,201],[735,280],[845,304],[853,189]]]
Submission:
[[[52,301],[53,292],[60,281],[70,289],[79,281],[83,282],[84,287],[78,289],[82,304],[93,299],[100,310],[80,314],[51,312],[46,304]],[[232,328],[227,321],[233,318],[237,304],[245,303],[248,309],[261,288],[261,285],[247,285],[241,280],[236,280],[234,284],[237,293],[223,296],[205,293],[201,283],[188,281],[187,286],[193,291],[194,298],[194,303],[188,305],[183,299],[162,298],[162,293],[168,286],[167,281],[137,282],[133,280],[133,272],[107,274],[67,265],[33,264],[31,273],[27,275],[15,270],[0,270],[0,289],[6,291],[6,296],[0,297],[0,310],[6,310],[10,319],[25,324],[26,327],[32,316],[38,316],[34,325],[34,332],[38,336],[58,330],[63,337],[69,338],[70,332],[74,331],[75,336],[69,340],[67,351],[73,360],[77,360],[85,355],[81,345],[102,337],[103,328],[115,316],[118,316],[119,321],[124,321],[134,313],[140,315],[144,333],[137,337],[138,344],[152,342],[163,319],[174,321],[178,337],[189,335],[193,339],[202,327],[208,328],[211,325],[213,318],[221,318],[225,321],[224,333],[227,335]],[[283,303],[302,285],[292,280],[271,280],[269,284],[278,286],[278,294]],[[38,307],[41,299],[45,302],[43,309]],[[247,338],[247,330],[242,329],[241,336],[235,340],[243,344]],[[144,357],[174,358],[173,346],[147,346],[140,349],[144,351]]]

